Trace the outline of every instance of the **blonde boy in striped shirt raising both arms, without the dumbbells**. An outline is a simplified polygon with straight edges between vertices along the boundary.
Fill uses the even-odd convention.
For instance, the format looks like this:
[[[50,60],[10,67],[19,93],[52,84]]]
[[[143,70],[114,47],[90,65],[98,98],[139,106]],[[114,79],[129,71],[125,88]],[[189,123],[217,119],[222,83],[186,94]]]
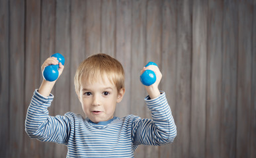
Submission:
[[[55,57],[46,59],[42,70],[48,65],[64,66]],[[88,57],[75,74],[75,91],[81,102],[86,119],[81,115],[66,113],[50,117],[47,108],[54,98],[50,94],[54,82],[43,80],[35,90],[26,116],[26,132],[31,138],[43,142],[67,145],[67,157],[134,157],[140,144],[162,145],[173,142],[176,126],[164,92],[159,92],[161,72],[157,66],[151,69],[156,82],[146,86],[145,98],[152,119],[134,115],[114,117],[116,103],[124,96],[124,70],[122,65],[106,54]]]

